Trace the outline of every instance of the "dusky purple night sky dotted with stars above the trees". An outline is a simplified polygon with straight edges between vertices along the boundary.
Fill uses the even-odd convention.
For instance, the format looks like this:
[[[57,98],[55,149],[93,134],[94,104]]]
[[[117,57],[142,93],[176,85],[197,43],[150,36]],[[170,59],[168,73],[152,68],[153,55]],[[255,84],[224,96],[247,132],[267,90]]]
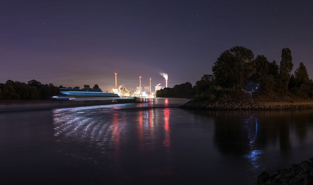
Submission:
[[[0,1],[0,83],[36,79],[56,86],[135,90],[169,75],[195,85],[216,58],[248,47],[313,77],[313,1]],[[154,87],[152,88],[154,90]]]

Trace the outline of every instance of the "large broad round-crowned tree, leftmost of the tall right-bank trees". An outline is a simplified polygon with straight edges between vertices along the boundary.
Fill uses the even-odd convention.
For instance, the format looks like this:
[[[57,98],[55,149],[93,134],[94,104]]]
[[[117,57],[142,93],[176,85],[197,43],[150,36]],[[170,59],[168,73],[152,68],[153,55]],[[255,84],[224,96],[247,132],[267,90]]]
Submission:
[[[243,46],[224,51],[212,67],[217,84],[223,87],[240,87],[254,74],[254,54]]]

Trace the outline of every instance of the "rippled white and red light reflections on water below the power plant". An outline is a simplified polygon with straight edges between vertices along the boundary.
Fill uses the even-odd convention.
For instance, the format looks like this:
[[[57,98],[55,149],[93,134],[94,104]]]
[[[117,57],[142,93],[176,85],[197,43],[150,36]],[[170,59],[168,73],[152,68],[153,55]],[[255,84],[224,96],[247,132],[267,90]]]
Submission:
[[[140,158],[150,153],[161,152],[170,155],[170,108],[153,109],[157,101],[130,105],[101,105],[53,110],[54,136],[59,143],[81,145],[92,148],[74,148],[66,154],[75,158],[103,163],[101,158],[114,162],[114,170],[119,172],[125,152],[136,153]],[[169,101],[166,99],[166,104]],[[163,99],[162,105],[165,105]],[[129,109],[133,107],[133,109]],[[158,127],[158,129],[156,129]],[[159,128],[162,127],[162,130]],[[72,148],[73,149],[73,148]],[[126,151],[125,151],[126,150]],[[153,151],[151,151],[153,150]],[[63,151],[60,151],[64,153]],[[161,156],[162,156],[161,155]]]

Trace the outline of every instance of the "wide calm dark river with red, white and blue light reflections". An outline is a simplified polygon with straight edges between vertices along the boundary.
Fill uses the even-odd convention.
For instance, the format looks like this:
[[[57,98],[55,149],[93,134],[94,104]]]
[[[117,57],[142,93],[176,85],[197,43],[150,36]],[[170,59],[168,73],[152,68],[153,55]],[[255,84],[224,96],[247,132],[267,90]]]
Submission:
[[[0,113],[2,184],[256,184],[313,156],[313,110],[188,111],[186,99]]]

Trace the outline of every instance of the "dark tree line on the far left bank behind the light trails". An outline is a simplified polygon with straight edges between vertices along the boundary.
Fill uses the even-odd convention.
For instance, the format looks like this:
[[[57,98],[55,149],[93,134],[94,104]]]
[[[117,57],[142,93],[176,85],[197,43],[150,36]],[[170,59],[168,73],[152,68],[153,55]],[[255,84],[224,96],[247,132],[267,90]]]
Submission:
[[[52,96],[60,95],[59,88],[72,88],[72,87],[59,87],[53,84],[41,84],[37,80],[30,80],[28,83],[7,80],[5,84],[0,83],[0,100],[44,100]],[[74,88],[79,89],[79,86]],[[89,85],[84,85],[85,89],[101,90],[98,84],[93,88]]]

